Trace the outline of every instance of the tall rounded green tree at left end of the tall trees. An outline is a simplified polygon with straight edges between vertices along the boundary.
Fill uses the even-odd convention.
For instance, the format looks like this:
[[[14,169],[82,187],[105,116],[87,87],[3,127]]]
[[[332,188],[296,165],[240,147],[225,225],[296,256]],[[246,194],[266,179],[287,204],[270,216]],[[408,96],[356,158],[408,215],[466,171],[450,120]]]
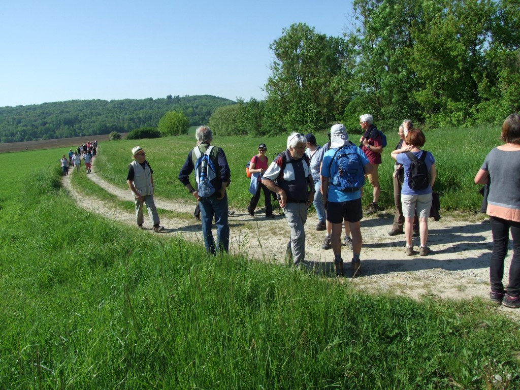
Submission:
[[[297,23],[284,29],[269,49],[275,60],[265,86],[267,99],[281,115],[283,128],[321,129],[343,113],[347,56],[343,38]]]

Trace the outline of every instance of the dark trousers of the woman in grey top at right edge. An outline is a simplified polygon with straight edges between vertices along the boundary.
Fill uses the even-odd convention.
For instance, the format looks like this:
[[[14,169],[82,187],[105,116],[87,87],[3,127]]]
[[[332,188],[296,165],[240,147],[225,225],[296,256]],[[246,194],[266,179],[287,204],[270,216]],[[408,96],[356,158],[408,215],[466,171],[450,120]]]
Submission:
[[[504,259],[508,254],[509,230],[513,237],[513,257],[509,266],[509,285],[508,294],[518,296],[520,291],[520,222],[514,222],[498,217],[489,217],[491,223],[491,233],[493,233],[493,252],[489,265],[489,279],[491,291],[502,292],[504,285]]]

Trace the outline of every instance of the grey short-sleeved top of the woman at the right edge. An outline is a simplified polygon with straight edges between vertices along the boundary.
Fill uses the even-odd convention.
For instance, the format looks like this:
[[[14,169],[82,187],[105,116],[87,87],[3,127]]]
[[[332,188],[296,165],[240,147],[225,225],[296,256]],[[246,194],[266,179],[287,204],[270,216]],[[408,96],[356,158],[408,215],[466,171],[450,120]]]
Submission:
[[[488,204],[520,210],[520,151],[492,149],[480,168],[491,178]]]

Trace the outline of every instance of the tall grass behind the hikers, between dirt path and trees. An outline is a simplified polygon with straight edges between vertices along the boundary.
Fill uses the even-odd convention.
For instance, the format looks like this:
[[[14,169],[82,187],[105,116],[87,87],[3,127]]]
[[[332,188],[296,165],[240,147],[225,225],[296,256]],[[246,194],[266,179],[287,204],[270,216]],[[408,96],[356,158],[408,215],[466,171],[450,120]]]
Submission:
[[[381,183],[380,205],[392,208],[394,205],[392,174],[394,160],[390,152],[398,142],[397,131],[387,131],[388,146],[384,150],[383,163],[379,168]],[[431,151],[436,160],[437,180],[434,190],[440,193],[444,210],[474,212],[479,209],[482,197],[478,186],[473,183],[478,168],[486,154],[499,145],[500,129],[495,127],[436,129],[426,132],[425,150]],[[327,141],[324,134],[317,134],[318,144]],[[350,134],[353,142],[359,134]],[[215,137],[214,145],[221,146],[231,167],[232,184],[229,201],[232,206],[245,208],[251,199],[248,192],[249,179],[245,177],[245,164],[256,154],[260,142],[268,146],[269,160],[285,149],[286,136],[252,138],[245,136]],[[100,174],[115,185],[125,187],[127,165],[131,160],[131,150],[139,144],[147,151],[147,159],[154,170],[156,192],[171,199],[189,198],[185,188],[177,180],[180,167],[188,151],[193,148],[194,136],[167,137],[154,140],[105,142],[96,160]],[[363,204],[372,201],[372,187],[365,185]]]

